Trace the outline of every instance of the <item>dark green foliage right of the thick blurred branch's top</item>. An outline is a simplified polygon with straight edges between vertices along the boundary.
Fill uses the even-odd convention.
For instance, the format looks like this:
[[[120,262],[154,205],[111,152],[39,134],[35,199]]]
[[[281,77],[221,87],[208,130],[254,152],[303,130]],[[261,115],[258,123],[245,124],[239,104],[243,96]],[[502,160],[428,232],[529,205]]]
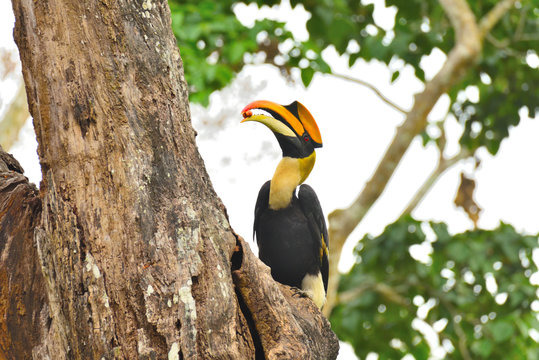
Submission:
[[[470,2],[476,15],[485,13],[495,2]],[[537,5],[537,2],[535,2]],[[452,111],[465,125],[461,144],[470,149],[485,145],[496,154],[501,140],[516,126],[518,111],[525,107],[530,117],[539,108],[539,70],[528,64],[537,56],[539,9],[523,2],[509,12],[487,35],[477,71],[468,75],[458,89],[450,92]],[[458,91],[476,86],[479,101],[458,96]]]

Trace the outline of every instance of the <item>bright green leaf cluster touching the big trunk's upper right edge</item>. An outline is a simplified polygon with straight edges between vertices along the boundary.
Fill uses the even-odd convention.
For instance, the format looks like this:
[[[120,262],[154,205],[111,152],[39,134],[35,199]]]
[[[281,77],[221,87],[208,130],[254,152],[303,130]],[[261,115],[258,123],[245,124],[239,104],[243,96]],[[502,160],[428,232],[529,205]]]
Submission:
[[[178,40],[191,101],[207,105],[211,92],[232,81],[253,52],[258,32],[275,26],[245,28],[232,11],[232,1],[170,0],[172,29]]]

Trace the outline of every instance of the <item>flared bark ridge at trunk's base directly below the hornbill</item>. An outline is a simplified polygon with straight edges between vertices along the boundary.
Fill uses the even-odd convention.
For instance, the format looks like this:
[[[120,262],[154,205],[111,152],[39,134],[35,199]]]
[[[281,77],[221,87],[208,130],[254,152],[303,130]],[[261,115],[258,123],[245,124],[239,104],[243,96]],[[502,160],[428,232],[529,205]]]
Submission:
[[[316,305],[296,290],[271,281],[270,268],[251,251],[244,252],[246,248],[248,245],[240,239],[233,264],[234,282],[240,301],[254,321],[256,340],[263,344],[265,357],[335,359],[339,352],[337,336]]]

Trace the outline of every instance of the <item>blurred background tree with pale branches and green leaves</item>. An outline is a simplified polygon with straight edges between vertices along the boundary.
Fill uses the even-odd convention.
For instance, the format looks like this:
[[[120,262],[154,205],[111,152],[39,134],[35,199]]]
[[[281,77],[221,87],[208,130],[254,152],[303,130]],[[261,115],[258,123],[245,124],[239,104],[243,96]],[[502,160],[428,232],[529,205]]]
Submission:
[[[210,95],[230,85],[242,69],[270,64],[288,82],[300,81],[305,87],[316,74],[367,87],[404,118],[370,180],[363,189],[350,190],[352,204],[329,215],[332,268],[325,311],[357,356],[539,358],[537,235],[520,234],[508,224],[478,229],[481,208],[474,200],[475,182],[464,174],[455,204],[475,229],[450,234],[443,223],[410,216],[446,170],[474,158],[479,166],[479,149],[497,154],[522,114],[536,117],[537,0],[386,0],[385,4],[169,0],[169,4],[192,103],[207,106]],[[301,8],[308,14],[308,37],[299,38],[285,22],[263,15],[282,7]],[[253,21],[238,16],[246,8],[258,14]],[[377,20],[377,8],[391,10],[389,26]],[[413,96],[410,107],[399,105],[401,98],[412,94],[400,94],[395,101],[380,90],[386,85],[382,80],[372,84],[339,72],[324,56],[328,50],[350,68],[362,62],[384,64],[392,84],[411,68],[423,89]],[[433,53],[445,61],[427,76],[425,59]],[[233,112],[217,117],[236,118],[241,105],[254,100],[254,85],[240,87],[243,91],[235,93],[241,96],[234,99]],[[429,114],[442,96],[448,98],[446,114],[433,119]],[[459,150],[452,155],[446,151],[448,119],[456,119],[462,127]],[[418,137],[425,146],[437,147],[436,168],[418,184],[395,223],[358,242],[350,234]],[[347,239],[357,243],[355,262],[341,275],[337,265]]]

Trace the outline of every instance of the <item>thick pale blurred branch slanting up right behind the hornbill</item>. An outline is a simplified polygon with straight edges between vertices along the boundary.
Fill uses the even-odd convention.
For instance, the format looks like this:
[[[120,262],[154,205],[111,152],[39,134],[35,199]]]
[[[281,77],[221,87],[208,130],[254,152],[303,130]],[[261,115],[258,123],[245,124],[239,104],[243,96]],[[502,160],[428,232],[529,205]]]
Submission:
[[[478,24],[465,0],[440,0],[455,31],[455,46],[436,76],[425,84],[422,92],[414,96],[412,109],[406,113],[403,124],[397,128],[384,157],[359,196],[349,207],[334,210],[329,214],[331,253],[328,299],[324,309],[326,315],[331,313],[337,300],[338,264],[346,239],[384,191],[412,140],[425,129],[427,117],[440,96],[457,84],[473,67],[481,54],[485,35],[515,2],[516,0],[501,1]]]

